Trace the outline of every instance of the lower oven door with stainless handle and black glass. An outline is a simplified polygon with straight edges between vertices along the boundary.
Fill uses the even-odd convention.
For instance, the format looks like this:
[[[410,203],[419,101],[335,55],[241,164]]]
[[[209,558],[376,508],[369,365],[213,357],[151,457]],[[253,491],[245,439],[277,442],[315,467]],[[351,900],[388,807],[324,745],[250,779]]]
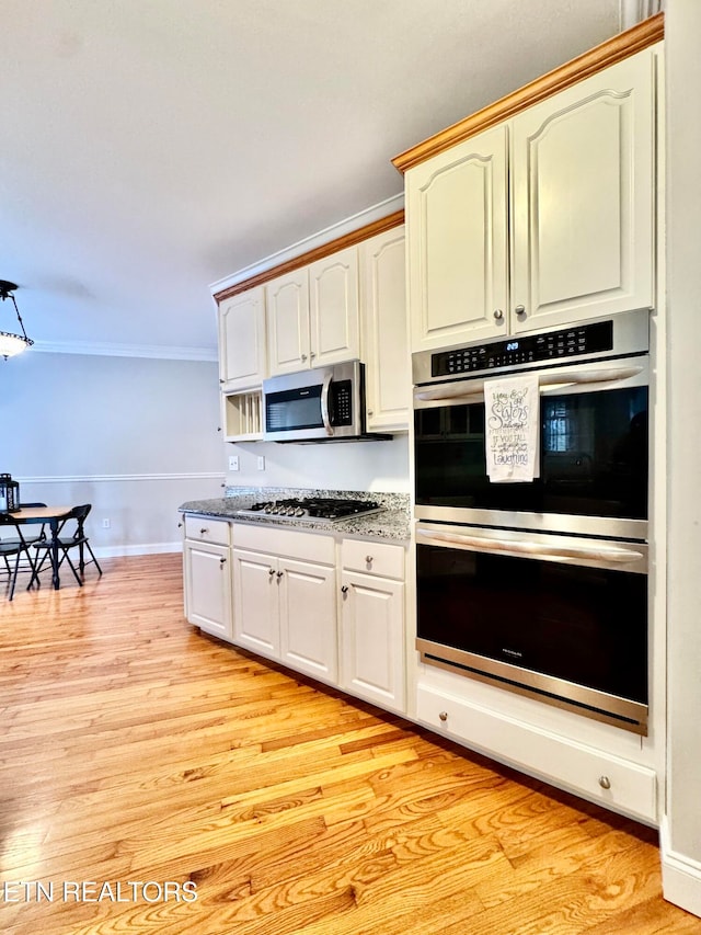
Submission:
[[[422,661],[647,733],[647,546],[420,523]]]

